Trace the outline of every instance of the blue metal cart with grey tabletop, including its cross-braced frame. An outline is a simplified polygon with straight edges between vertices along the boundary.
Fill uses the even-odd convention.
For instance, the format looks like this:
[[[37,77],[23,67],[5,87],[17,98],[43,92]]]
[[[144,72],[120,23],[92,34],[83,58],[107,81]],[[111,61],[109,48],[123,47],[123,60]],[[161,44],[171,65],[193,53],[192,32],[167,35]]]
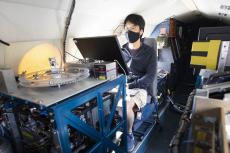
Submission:
[[[111,103],[109,116],[105,118],[103,108],[103,94],[118,87],[118,92]],[[62,153],[71,153],[68,126],[92,139],[95,144],[88,152],[127,152],[127,114],[126,114],[126,78],[121,75],[114,80],[100,81],[88,78],[73,85],[61,88],[29,89],[18,88],[15,93],[8,94],[0,91],[1,96],[8,97],[13,106],[20,104],[36,105],[40,110],[46,110],[53,116],[54,131],[56,131],[59,147]],[[112,127],[118,101],[122,98],[123,109],[120,122]],[[96,99],[99,118],[99,129],[88,125],[85,121],[73,113],[73,109]],[[15,105],[16,104],[16,105]],[[9,106],[9,105],[8,105]],[[116,131],[122,130],[122,144],[115,144],[112,136]]]

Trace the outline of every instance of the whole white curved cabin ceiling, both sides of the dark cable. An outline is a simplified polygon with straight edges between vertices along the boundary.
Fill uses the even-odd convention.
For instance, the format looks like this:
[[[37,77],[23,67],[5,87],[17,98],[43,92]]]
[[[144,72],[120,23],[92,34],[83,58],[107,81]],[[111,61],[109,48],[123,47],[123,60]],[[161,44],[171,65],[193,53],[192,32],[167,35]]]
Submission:
[[[0,39],[27,41],[62,38],[72,0],[0,0]],[[164,19],[202,14],[230,21],[230,0],[76,0],[69,36],[113,34],[130,13],[146,20],[147,35]]]

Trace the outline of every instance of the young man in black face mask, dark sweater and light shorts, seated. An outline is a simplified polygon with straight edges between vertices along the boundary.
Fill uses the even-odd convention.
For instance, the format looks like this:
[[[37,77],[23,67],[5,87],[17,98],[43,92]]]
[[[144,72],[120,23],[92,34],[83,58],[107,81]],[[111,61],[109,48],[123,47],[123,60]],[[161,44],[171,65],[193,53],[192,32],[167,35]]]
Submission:
[[[132,134],[134,111],[141,109],[147,102],[147,94],[153,95],[153,83],[156,79],[157,55],[156,51],[142,42],[145,21],[138,14],[130,14],[124,20],[125,35],[128,43],[123,46],[123,57],[132,73],[128,80],[127,93],[131,93],[127,99],[128,120],[128,151],[135,147]],[[136,92],[135,92],[136,91]]]

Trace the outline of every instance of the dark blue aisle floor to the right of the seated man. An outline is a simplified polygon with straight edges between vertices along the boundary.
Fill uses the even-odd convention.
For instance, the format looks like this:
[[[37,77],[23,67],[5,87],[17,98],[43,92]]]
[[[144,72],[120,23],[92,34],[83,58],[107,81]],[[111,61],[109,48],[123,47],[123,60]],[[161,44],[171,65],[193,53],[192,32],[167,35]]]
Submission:
[[[174,101],[185,104],[191,87],[180,85],[175,93]],[[145,153],[168,153],[169,144],[179,125],[180,114],[169,107],[161,117],[162,130],[156,128]]]

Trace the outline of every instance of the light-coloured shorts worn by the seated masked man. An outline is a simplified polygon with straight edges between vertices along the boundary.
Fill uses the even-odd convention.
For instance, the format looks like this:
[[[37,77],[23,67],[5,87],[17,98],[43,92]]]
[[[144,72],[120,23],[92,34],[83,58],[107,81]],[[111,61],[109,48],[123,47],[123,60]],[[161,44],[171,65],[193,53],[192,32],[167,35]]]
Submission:
[[[147,103],[147,91],[144,89],[134,88],[127,89],[127,101],[133,101],[140,110]],[[129,99],[130,98],[130,99]]]

